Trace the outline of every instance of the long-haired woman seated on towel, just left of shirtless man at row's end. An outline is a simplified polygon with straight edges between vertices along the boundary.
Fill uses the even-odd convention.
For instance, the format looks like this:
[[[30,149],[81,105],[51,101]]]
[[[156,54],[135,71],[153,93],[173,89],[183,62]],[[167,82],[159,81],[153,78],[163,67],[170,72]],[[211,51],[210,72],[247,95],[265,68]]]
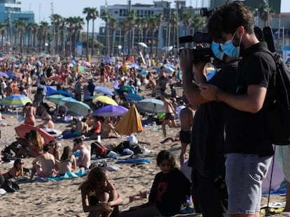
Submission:
[[[64,147],[62,152],[62,157],[60,158],[60,163],[58,165],[58,174],[64,176],[64,174],[69,172],[78,172],[76,167],[76,157],[72,154],[72,149],[69,146]]]

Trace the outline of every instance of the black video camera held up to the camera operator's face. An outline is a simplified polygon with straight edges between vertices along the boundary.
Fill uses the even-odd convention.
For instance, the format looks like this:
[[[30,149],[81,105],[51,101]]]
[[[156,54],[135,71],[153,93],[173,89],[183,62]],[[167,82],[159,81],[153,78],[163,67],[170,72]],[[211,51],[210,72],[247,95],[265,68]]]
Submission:
[[[212,42],[209,41],[209,36],[207,32],[200,32],[197,31],[193,34],[193,36],[182,36],[179,37],[179,44],[182,43],[207,43],[211,44]],[[194,61],[203,61],[203,62],[212,62],[212,58],[214,57],[214,54],[212,52],[212,49],[210,47],[202,47],[202,48],[194,48],[193,51],[193,57]]]

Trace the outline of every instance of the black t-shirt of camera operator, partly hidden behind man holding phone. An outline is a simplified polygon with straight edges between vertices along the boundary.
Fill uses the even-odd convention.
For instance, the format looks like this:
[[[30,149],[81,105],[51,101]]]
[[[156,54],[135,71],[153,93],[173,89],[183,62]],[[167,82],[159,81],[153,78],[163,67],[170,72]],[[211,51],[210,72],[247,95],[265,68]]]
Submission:
[[[207,83],[235,93],[237,63],[228,62]],[[226,103],[212,101],[199,105],[195,112],[188,165],[202,175],[217,177],[225,173],[224,126],[229,108]]]

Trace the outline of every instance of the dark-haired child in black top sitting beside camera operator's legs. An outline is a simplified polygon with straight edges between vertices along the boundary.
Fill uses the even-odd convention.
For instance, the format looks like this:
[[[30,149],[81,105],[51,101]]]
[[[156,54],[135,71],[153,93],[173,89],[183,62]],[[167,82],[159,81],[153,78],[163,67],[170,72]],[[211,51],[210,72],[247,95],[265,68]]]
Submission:
[[[181,204],[191,195],[191,182],[175,167],[175,158],[170,151],[160,151],[156,174],[149,194],[149,202],[123,211],[121,217],[174,216],[179,214]]]

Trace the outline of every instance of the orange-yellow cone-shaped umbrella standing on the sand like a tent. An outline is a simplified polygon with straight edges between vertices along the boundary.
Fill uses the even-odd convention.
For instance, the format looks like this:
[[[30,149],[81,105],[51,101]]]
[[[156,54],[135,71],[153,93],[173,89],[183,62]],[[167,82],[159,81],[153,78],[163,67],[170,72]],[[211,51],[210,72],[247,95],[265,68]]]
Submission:
[[[123,118],[120,119],[115,126],[115,130],[120,135],[131,135],[132,133],[140,133],[143,131],[141,118],[134,104]]]

